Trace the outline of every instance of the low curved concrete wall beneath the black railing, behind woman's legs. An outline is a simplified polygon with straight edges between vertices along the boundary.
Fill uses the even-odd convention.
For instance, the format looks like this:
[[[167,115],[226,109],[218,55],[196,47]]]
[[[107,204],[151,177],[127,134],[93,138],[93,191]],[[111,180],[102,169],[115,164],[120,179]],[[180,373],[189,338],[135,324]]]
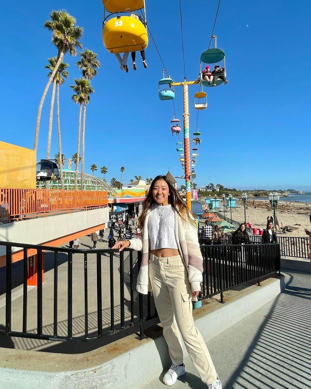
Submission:
[[[253,285],[228,296],[225,304],[213,302],[194,310],[195,325],[208,342],[276,298],[283,289],[282,277],[266,279],[260,287]],[[0,349],[0,380],[7,389],[146,387],[171,363],[161,328],[155,326],[147,335],[149,338],[144,340],[129,335],[84,354]]]

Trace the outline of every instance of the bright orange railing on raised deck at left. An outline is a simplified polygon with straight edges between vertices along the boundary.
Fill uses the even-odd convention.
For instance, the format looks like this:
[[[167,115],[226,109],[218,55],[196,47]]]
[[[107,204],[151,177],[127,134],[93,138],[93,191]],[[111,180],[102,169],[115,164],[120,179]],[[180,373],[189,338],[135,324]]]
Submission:
[[[70,212],[108,206],[106,191],[0,188],[0,219],[24,219],[28,215]]]

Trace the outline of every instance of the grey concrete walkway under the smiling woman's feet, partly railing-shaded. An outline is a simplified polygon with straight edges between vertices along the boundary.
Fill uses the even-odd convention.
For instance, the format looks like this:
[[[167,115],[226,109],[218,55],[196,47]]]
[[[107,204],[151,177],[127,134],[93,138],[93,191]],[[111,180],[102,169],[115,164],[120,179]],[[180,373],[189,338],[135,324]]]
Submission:
[[[282,273],[284,293],[207,343],[223,389],[311,388],[311,275]],[[185,365],[174,388],[207,387],[188,355]],[[143,389],[164,389],[163,375]]]

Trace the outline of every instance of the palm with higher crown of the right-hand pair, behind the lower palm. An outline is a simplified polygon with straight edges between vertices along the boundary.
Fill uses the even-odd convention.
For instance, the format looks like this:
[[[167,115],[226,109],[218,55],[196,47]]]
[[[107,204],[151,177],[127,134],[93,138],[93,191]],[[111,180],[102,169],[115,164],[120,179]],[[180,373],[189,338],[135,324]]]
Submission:
[[[93,53],[92,50],[85,49],[84,52],[80,53],[80,61],[76,63],[79,69],[82,69],[82,76],[86,79],[93,79],[97,74],[98,68],[100,68],[100,61],[97,59],[97,54]],[[94,93],[90,91],[89,94]],[[83,121],[82,121],[82,166],[81,166],[81,189],[84,185],[84,138],[85,138],[85,114],[86,104],[83,107]]]

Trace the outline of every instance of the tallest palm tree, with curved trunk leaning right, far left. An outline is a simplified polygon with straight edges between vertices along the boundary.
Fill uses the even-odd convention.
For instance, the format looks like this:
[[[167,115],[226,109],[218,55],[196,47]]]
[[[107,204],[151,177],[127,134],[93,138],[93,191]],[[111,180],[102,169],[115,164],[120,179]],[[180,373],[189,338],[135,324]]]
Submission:
[[[35,140],[33,143],[33,149],[37,151],[38,147],[38,136],[40,127],[41,111],[44,103],[47,90],[54,81],[54,76],[58,71],[59,65],[63,61],[64,55],[68,52],[70,55],[75,56],[77,54],[77,48],[82,49],[82,45],[79,39],[83,35],[83,28],[76,26],[76,19],[69,15],[66,11],[52,11],[50,14],[51,20],[47,20],[44,23],[44,27],[52,32],[52,43],[58,49],[57,62],[54,70],[52,71],[49,80],[44,88],[43,94],[38,107],[36,127],[35,127]]]

